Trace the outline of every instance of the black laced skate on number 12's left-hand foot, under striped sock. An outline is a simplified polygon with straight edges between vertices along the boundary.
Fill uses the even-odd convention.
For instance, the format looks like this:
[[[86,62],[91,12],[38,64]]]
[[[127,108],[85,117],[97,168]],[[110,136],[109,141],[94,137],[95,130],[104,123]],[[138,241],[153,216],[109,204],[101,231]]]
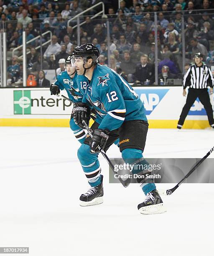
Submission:
[[[80,206],[99,205],[103,203],[103,176],[101,175],[101,183],[96,187],[91,187],[88,192],[82,194],[79,198]]]

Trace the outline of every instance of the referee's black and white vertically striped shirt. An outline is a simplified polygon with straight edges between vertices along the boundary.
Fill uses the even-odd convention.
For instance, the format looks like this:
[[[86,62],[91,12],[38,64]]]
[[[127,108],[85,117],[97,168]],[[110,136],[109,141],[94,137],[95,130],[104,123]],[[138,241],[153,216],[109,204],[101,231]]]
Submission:
[[[198,67],[196,64],[191,65],[183,77],[183,88],[187,86],[194,89],[204,89],[207,86],[213,88],[214,78],[212,72],[206,64]]]

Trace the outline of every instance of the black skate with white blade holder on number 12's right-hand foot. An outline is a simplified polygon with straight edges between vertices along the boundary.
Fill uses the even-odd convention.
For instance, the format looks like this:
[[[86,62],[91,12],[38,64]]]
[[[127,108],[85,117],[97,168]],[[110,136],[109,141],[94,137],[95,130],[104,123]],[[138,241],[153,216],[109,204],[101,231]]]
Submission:
[[[138,210],[142,214],[157,214],[166,212],[166,209],[163,206],[163,201],[156,189],[147,193],[144,202],[138,205]]]

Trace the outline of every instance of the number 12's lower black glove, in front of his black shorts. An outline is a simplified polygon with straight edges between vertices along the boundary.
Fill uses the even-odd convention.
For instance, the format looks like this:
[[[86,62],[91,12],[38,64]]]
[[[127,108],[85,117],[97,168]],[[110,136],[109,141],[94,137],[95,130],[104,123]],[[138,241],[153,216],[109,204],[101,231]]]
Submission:
[[[95,129],[92,134],[93,138],[90,140],[91,153],[99,153],[100,148],[104,149],[109,136],[107,135],[107,131],[102,129]],[[98,147],[100,148],[98,149]]]

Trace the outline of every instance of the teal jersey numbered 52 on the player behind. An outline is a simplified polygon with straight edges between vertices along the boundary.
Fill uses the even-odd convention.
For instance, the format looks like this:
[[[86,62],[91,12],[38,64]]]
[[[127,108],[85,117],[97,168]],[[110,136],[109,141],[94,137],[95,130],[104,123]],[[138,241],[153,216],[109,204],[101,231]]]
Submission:
[[[59,86],[60,90],[65,89],[70,100],[74,102],[82,102],[83,95],[79,92],[79,88],[76,82],[77,77],[78,75],[75,74],[74,78],[71,79],[67,71],[63,71],[59,75],[57,75],[54,84]],[[86,77],[85,80],[87,81]]]

